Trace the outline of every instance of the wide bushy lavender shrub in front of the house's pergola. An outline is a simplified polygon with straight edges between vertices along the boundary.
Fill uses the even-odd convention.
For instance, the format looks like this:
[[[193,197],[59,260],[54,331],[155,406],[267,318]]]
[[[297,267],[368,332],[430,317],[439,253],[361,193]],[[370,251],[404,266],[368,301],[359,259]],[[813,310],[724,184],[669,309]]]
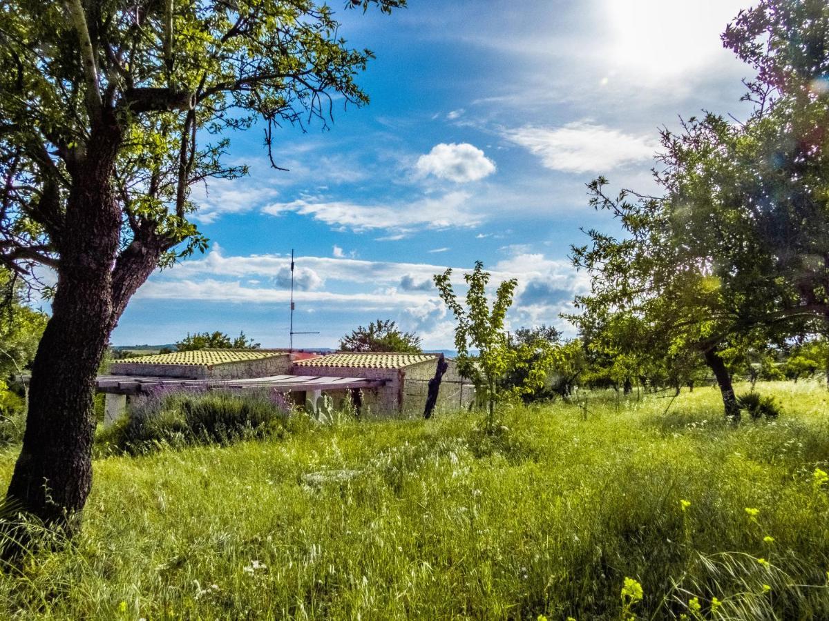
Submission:
[[[284,399],[265,392],[160,391],[139,397],[99,443],[133,454],[160,445],[228,444],[284,433],[289,409]]]

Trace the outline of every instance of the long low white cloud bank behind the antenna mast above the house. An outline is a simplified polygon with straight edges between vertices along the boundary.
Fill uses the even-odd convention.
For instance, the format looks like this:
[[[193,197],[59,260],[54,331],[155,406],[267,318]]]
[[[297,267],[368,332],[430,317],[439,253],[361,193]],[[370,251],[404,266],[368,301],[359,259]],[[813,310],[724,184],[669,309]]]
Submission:
[[[487,271],[492,274],[491,290],[507,278],[518,279],[515,304],[508,315],[510,329],[548,323],[571,334],[559,315],[572,310],[576,293],[586,291],[589,283],[584,274],[575,272],[569,262],[542,253],[521,252],[521,248],[508,252],[507,258],[487,266]],[[281,305],[290,296],[290,260],[289,254],[225,257],[221,247],[214,245],[205,258],[154,275],[137,297]],[[335,313],[381,312],[408,318],[430,347],[451,342],[444,339],[452,325],[433,281],[446,266],[332,257],[298,256],[294,260],[294,297],[303,307],[313,304]],[[460,295],[466,289],[463,274],[469,271],[453,267],[452,282]]]

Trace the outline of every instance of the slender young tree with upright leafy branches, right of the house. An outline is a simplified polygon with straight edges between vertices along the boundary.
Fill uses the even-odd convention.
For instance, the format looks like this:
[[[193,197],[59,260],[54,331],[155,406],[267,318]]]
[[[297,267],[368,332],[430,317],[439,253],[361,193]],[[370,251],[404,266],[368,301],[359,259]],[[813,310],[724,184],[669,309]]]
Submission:
[[[492,431],[495,426],[498,383],[509,368],[511,359],[507,333],[504,331],[504,316],[512,305],[512,294],[518,281],[511,278],[498,285],[490,308],[487,300],[490,273],[484,272],[483,263],[476,261],[473,272],[463,275],[468,286],[464,308],[453,290],[451,277],[452,270],[447,269],[443,274],[434,276],[434,284],[438,287],[440,298],[455,317],[458,371],[473,381],[478,394],[486,400],[487,429]],[[469,355],[470,347],[478,349],[475,359]]]

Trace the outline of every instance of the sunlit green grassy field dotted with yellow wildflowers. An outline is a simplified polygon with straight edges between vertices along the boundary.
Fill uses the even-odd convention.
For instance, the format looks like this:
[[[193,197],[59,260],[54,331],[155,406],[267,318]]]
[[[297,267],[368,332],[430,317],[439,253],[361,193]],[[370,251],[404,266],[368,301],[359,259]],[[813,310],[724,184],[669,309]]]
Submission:
[[[99,459],[0,618],[829,619],[829,395],[758,389],[777,421],[697,388]]]

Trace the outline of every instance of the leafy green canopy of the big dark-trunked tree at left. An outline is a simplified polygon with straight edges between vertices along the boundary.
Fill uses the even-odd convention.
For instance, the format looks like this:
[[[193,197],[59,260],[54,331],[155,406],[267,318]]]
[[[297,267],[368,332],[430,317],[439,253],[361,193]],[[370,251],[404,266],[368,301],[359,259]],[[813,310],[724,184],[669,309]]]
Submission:
[[[221,162],[228,130],[261,128],[277,166],[274,128],[324,127],[337,99],[368,102],[355,76],[371,51],[338,29],[312,0],[0,2],[0,263],[82,261],[71,241],[84,223],[67,205],[111,154],[95,200],[114,202],[107,226],[122,233],[118,261],[96,260],[114,265],[116,296],[138,258],[205,248],[192,187],[248,171]]]

